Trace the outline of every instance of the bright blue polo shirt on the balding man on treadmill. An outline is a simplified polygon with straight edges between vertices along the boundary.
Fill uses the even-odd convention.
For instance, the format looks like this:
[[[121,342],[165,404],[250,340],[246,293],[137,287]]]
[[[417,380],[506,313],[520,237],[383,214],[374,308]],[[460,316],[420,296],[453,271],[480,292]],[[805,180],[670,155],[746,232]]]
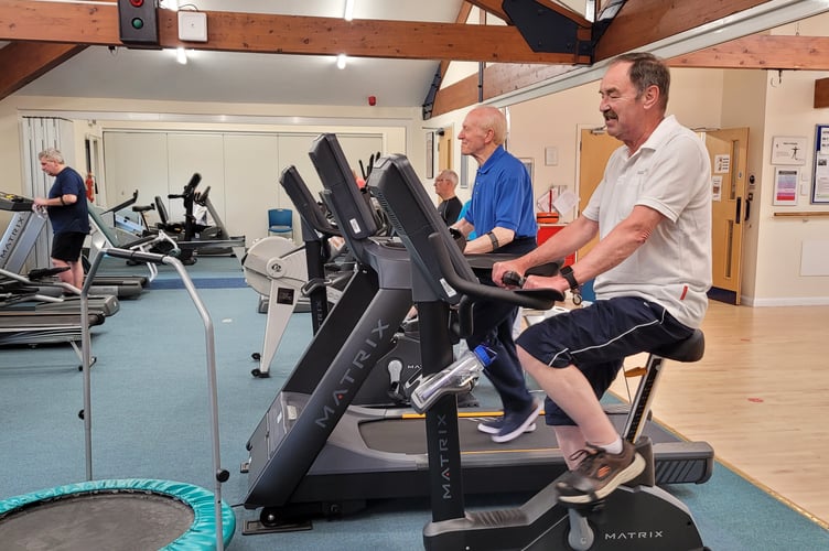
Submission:
[[[515,238],[536,237],[532,182],[524,163],[498,145],[478,166],[472,202],[464,218],[475,226],[478,236],[494,227],[512,229]]]

